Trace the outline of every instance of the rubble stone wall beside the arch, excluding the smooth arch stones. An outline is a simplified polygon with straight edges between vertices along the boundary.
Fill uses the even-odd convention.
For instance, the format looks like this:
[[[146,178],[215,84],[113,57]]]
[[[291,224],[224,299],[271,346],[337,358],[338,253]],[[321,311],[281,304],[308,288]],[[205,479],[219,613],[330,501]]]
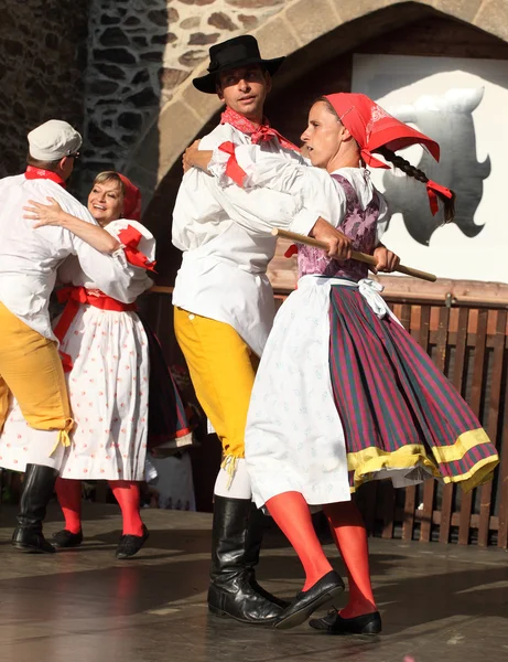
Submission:
[[[125,167],[159,108],[212,44],[256,29],[284,0],[93,0],[86,74],[87,181]],[[156,153],[154,153],[156,158]]]

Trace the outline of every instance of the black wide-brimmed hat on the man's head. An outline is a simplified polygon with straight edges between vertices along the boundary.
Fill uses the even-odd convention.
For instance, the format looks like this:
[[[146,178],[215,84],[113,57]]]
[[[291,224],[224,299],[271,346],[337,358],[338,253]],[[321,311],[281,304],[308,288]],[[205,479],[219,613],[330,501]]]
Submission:
[[[270,75],[273,75],[284,60],[285,57],[263,60],[259,53],[258,42],[251,34],[235,36],[210,47],[208,74],[193,78],[193,85],[199,92],[215,94],[217,75],[220,72],[249,64],[260,64]]]

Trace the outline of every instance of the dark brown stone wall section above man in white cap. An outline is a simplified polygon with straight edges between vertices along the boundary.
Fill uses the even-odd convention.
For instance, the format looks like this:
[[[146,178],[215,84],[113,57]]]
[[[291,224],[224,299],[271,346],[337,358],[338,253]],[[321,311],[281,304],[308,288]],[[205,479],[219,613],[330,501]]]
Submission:
[[[88,0],[12,0],[0,17],[0,177],[25,163],[26,134],[83,125]]]

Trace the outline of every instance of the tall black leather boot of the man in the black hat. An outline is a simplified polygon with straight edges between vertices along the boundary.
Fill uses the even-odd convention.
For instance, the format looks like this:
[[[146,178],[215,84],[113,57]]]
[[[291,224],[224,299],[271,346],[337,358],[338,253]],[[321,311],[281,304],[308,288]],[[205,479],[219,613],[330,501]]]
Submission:
[[[251,512],[249,499],[215,496],[208,609],[244,623],[272,626],[282,609],[267,599],[270,594],[257,590],[252,566],[260,538],[258,532],[249,547]]]

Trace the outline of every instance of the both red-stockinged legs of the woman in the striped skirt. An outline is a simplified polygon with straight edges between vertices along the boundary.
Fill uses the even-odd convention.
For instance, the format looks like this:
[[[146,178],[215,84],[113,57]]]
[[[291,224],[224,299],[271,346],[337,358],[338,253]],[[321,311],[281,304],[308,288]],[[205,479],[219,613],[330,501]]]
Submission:
[[[267,501],[267,508],[302,562],[305,570],[303,590],[307,590],[332,569],[314,532],[309,505],[300,492],[284,492]],[[354,618],[376,611],[367,532],[358,508],[353,501],[344,501],[326,504],[323,511],[349,579],[349,601],[341,615]]]

